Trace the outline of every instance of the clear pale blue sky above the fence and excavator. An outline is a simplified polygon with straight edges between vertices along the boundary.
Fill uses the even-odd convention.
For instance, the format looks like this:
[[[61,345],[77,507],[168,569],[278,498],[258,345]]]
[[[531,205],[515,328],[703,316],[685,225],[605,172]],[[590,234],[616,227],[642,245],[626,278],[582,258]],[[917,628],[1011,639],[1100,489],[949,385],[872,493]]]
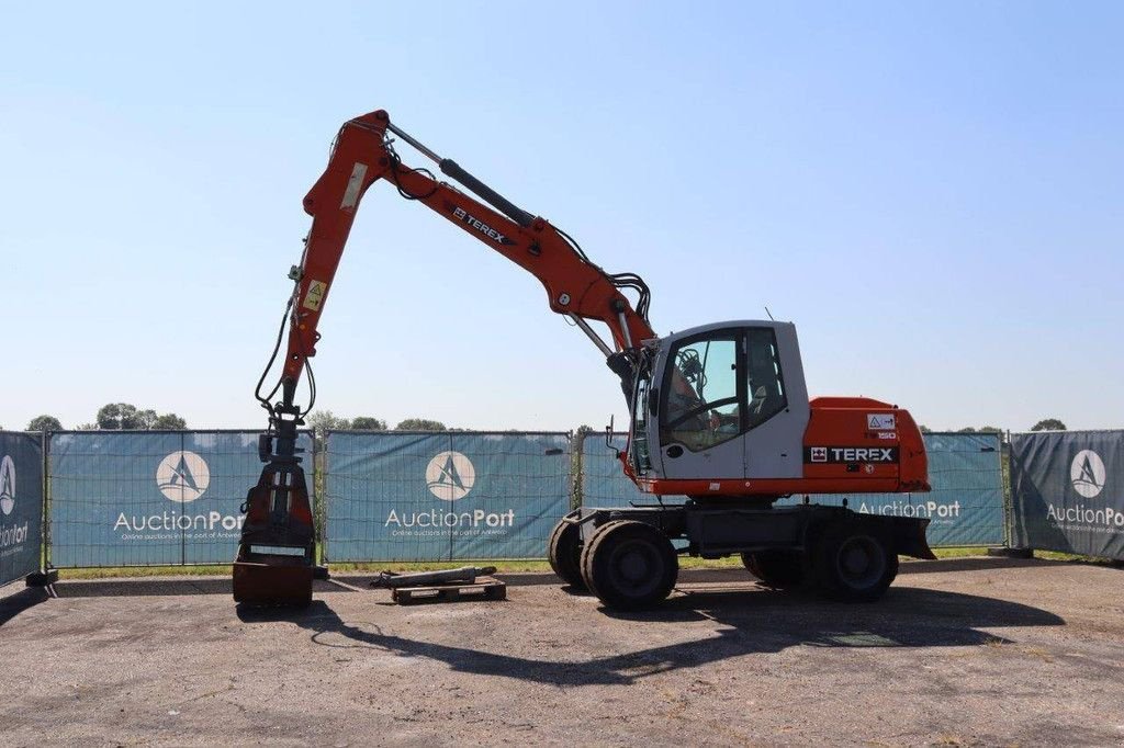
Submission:
[[[345,119],[373,109],[611,272],[658,331],[790,319],[809,392],[932,428],[1122,426],[1118,3],[8,3],[0,423],[251,391]],[[407,163],[420,156],[402,149]],[[538,283],[368,193],[317,407],[625,412]]]

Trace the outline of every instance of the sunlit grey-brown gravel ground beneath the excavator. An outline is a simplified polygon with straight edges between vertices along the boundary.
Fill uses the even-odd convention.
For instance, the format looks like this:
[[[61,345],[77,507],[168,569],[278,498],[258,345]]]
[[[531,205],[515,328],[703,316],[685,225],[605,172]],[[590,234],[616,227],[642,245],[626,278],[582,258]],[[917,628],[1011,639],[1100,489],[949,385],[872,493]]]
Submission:
[[[618,615],[549,574],[399,606],[318,582],[300,613],[220,578],[0,591],[3,745],[1124,744],[1124,569],[907,564],[843,605],[685,572]]]

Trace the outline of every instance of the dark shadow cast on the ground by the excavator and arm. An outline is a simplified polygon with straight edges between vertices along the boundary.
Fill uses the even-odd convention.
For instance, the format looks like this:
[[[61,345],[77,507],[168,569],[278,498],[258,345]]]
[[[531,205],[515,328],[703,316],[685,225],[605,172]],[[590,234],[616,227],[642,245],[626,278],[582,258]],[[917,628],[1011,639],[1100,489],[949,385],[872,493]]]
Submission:
[[[506,604],[513,604],[508,602]],[[515,603],[517,604],[517,603]],[[1003,644],[981,627],[1062,626],[1053,613],[1003,600],[922,589],[891,590],[876,604],[841,605],[764,590],[695,592],[628,621],[699,622],[705,636],[673,645],[641,648],[592,659],[566,658],[565,649],[544,648],[558,659],[527,658],[384,633],[378,624],[344,621],[324,601],[307,610],[239,609],[247,622],[289,621],[326,647],[371,647],[402,657],[424,657],[455,671],[554,685],[629,684],[650,675],[797,645],[822,647],[952,647]]]

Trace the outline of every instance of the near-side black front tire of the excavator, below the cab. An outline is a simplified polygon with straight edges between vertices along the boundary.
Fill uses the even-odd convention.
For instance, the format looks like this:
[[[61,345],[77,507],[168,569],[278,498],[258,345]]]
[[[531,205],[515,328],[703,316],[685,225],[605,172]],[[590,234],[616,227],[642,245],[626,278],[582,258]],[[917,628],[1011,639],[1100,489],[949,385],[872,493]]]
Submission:
[[[581,551],[586,586],[619,611],[644,610],[663,601],[679,577],[671,539],[645,522],[616,520],[597,529]]]

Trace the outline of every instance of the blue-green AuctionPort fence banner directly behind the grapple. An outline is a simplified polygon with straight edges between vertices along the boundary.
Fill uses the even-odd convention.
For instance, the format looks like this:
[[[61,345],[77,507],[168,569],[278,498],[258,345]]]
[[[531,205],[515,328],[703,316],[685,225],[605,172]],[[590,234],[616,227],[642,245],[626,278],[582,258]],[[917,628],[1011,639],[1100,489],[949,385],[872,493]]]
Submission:
[[[48,443],[57,567],[228,564],[260,431],[70,431]],[[312,439],[302,434],[311,481]],[[311,490],[311,486],[309,486]]]

